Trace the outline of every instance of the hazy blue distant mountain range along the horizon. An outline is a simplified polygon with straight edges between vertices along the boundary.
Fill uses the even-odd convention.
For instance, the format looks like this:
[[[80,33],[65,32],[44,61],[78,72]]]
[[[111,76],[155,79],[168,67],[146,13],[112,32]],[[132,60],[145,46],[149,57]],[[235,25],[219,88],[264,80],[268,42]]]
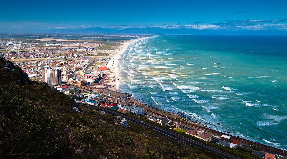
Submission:
[[[3,32],[4,33],[4,32]],[[162,28],[162,27],[131,27],[106,28],[91,27],[78,28],[52,28],[36,29],[14,28],[6,33],[61,33],[61,34],[287,34],[285,30],[228,30],[228,29],[193,29],[193,28]]]

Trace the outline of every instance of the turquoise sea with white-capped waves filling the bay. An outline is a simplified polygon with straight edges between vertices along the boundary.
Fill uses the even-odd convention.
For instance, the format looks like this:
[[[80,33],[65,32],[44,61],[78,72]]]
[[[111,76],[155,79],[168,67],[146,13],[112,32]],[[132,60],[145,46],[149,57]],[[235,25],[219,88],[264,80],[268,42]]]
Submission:
[[[287,143],[287,37],[155,36],[131,44],[119,65],[120,89],[145,104],[276,148]]]

